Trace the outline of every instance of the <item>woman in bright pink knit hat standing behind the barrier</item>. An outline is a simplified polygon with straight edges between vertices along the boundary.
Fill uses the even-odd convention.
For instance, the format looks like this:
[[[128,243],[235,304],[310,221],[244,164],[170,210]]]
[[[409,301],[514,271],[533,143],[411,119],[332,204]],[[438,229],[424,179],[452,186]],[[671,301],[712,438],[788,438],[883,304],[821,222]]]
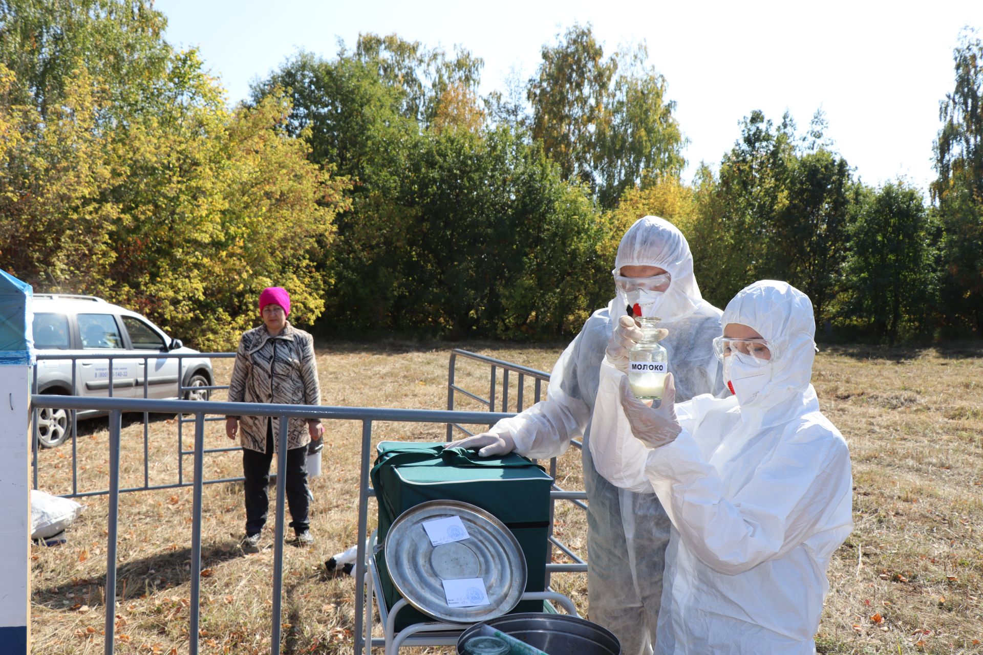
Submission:
[[[260,293],[262,325],[244,333],[236,350],[229,384],[229,402],[320,405],[318,363],[314,338],[298,330],[290,315],[290,294],[282,287]],[[240,429],[242,428],[242,429]],[[287,425],[287,504],[290,526],[299,545],[314,543],[308,522],[310,496],[307,485],[307,446],[321,438],[319,419],[289,418]],[[279,419],[267,416],[226,416],[225,433],[239,436],[243,447],[246,495],[244,544],[257,547],[266,522],[269,497],[269,464],[276,453],[273,435],[279,435]]]

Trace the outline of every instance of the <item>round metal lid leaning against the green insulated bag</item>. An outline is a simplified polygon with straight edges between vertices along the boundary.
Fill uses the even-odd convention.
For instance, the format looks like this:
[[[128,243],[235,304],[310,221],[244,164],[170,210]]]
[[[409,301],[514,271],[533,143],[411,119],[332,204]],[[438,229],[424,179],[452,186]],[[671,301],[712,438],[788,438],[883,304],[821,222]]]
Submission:
[[[453,517],[467,538],[434,546],[425,523]],[[515,536],[485,510],[460,501],[429,501],[401,514],[385,535],[385,566],[406,602],[438,621],[470,624],[508,614],[526,590],[526,557]],[[482,579],[487,604],[448,603],[452,592],[445,582],[467,578]],[[474,601],[481,595],[475,592],[468,588],[465,595]]]

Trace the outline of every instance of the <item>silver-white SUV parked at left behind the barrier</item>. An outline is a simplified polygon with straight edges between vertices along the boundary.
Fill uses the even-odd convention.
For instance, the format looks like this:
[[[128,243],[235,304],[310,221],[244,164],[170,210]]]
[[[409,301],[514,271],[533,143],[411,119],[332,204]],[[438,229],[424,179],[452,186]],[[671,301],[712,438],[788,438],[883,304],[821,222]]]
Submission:
[[[37,393],[62,396],[109,396],[109,360],[106,355],[145,355],[113,359],[113,397],[178,398],[178,359],[154,357],[154,353],[195,355],[135,311],[94,296],[35,294],[34,349],[38,355],[75,357],[76,379],[72,388],[72,359],[37,360]],[[207,357],[186,356],[180,366],[184,387],[211,386],[214,376]],[[186,390],[187,400],[207,400],[208,391]],[[78,418],[98,415],[79,411]],[[105,413],[105,412],[101,412]],[[40,445],[52,448],[72,436],[71,415],[65,409],[38,409]]]

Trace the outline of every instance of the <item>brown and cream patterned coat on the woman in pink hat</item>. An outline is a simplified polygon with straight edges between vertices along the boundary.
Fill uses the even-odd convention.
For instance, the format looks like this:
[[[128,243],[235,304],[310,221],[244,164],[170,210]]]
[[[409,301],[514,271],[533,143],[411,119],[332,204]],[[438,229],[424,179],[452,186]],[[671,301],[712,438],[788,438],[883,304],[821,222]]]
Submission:
[[[289,321],[276,337],[269,336],[265,325],[244,333],[236,350],[229,402],[320,405],[314,338]],[[271,420],[275,452],[280,421]],[[266,452],[266,416],[240,416],[239,428],[243,448]],[[288,419],[287,448],[307,446],[310,441],[307,420]]]

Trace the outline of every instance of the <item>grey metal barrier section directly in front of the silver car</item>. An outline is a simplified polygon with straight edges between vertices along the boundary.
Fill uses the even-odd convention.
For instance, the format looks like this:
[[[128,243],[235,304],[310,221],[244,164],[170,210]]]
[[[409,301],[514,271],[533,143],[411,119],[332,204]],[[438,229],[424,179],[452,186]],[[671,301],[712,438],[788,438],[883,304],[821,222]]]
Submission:
[[[37,355],[37,362],[34,363],[32,369],[31,369],[31,374],[32,374],[31,375],[31,393],[34,394],[34,395],[36,395],[38,393],[38,384],[39,384],[38,371],[39,371],[39,368],[40,368],[40,370],[44,370],[44,363],[43,362],[45,362],[45,361],[68,361],[68,362],[70,362],[70,365],[71,365],[71,368],[72,368],[72,373],[71,373],[69,384],[71,385],[72,395],[76,395],[76,396],[79,396],[80,395],[79,394],[79,391],[80,391],[80,381],[78,379],[79,378],[79,376],[78,376],[78,370],[79,370],[78,362],[80,360],[98,361],[98,362],[103,362],[104,361],[104,362],[107,362],[107,369],[108,369],[107,370],[107,379],[106,379],[106,392],[107,392],[109,398],[114,398],[114,390],[117,389],[117,388],[119,388],[119,385],[117,384],[116,375],[115,375],[115,367],[113,366],[113,362],[116,361],[116,360],[120,360],[120,359],[122,359],[122,360],[138,359],[138,360],[143,360],[143,364],[144,364],[144,375],[143,375],[143,381],[142,382],[137,382],[137,384],[143,386],[143,389],[144,389],[144,399],[145,400],[155,400],[155,399],[148,399],[147,398],[147,396],[149,394],[149,387],[151,386],[149,384],[149,369],[150,369],[149,362],[151,360],[153,360],[153,359],[176,359],[177,360],[177,363],[178,363],[178,370],[177,370],[177,381],[176,381],[176,387],[175,387],[176,394],[175,395],[177,396],[177,398],[178,399],[183,399],[184,396],[185,396],[185,394],[188,393],[188,392],[196,392],[196,393],[197,392],[206,392],[208,395],[210,395],[211,392],[213,392],[213,391],[220,391],[220,390],[228,389],[229,386],[228,385],[216,385],[216,384],[214,384],[214,378],[212,378],[212,380],[211,380],[212,384],[210,384],[210,385],[196,385],[196,386],[185,385],[185,379],[184,379],[185,378],[185,372],[186,372],[185,365],[184,365],[185,364],[185,360],[187,360],[187,359],[220,359],[220,358],[231,358],[231,357],[234,357],[235,355],[236,355],[235,353],[157,353],[157,352],[147,352],[147,354],[145,354],[145,355],[144,354],[131,354],[131,353],[108,354],[108,353],[101,353],[99,351],[91,351],[91,352],[87,352],[87,353],[78,353],[78,352],[64,353],[64,354],[59,353],[58,355],[42,354],[42,355]],[[192,370],[194,370],[194,369],[192,369]],[[51,395],[51,398],[65,398],[65,396],[52,394]],[[96,398],[98,398],[98,397],[89,397],[89,396],[87,396],[86,398],[91,398],[92,400],[96,400]],[[168,408],[170,408],[170,407],[171,406],[168,406]],[[39,420],[39,411],[38,410],[39,409],[42,409],[42,406],[40,406],[40,405],[34,405],[33,408],[34,409],[31,410],[31,412],[32,412],[32,415],[31,415],[31,443],[32,443],[32,448],[31,448],[31,464],[30,464],[31,465],[31,476],[32,476],[31,486],[34,489],[37,489],[37,488],[39,488],[38,487],[38,470],[37,470],[37,468],[38,468],[38,451],[41,448],[40,439],[39,439],[40,420]],[[67,417],[68,418],[68,424],[66,425],[66,427],[71,426],[70,432],[71,432],[71,442],[72,442],[72,457],[71,457],[72,493],[70,493],[70,494],[64,494],[65,497],[67,497],[67,498],[81,498],[81,497],[85,497],[85,496],[104,496],[104,495],[108,494],[109,493],[109,490],[108,489],[99,489],[99,490],[95,490],[95,491],[80,491],[79,490],[79,477],[78,477],[79,476],[79,472],[78,472],[79,471],[79,466],[78,466],[78,454],[79,454],[78,453],[78,433],[79,433],[78,412],[79,412],[79,409],[71,409],[68,406],[60,405],[60,404],[55,405],[53,407],[48,407],[47,409],[67,409],[68,412],[69,412],[69,415]],[[83,408],[83,409],[95,409],[95,408],[86,407],[86,408]],[[175,488],[175,487],[187,487],[187,486],[191,486],[192,483],[191,482],[186,482],[185,479],[184,479],[184,459],[186,457],[192,457],[192,456],[194,456],[194,451],[189,451],[189,450],[185,450],[184,449],[184,446],[183,446],[183,443],[184,443],[183,442],[183,437],[184,437],[184,424],[185,423],[193,423],[193,422],[195,422],[195,419],[194,418],[186,418],[183,414],[179,414],[178,415],[178,441],[177,441],[177,452],[176,452],[177,453],[177,457],[178,457],[178,478],[177,478],[177,482],[174,482],[174,483],[171,483],[171,484],[151,485],[150,484],[150,479],[149,479],[150,478],[150,474],[149,474],[149,457],[148,457],[148,455],[149,455],[149,452],[148,452],[149,451],[149,415],[148,414],[149,414],[150,411],[157,411],[157,410],[156,409],[151,409],[151,410],[145,410],[144,411],[144,484],[143,484],[143,486],[127,487],[125,489],[122,489],[121,491],[123,491],[123,492],[127,492],[127,491],[149,491],[149,490],[152,490],[152,489],[172,489],[172,488]],[[174,413],[176,411],[176,409],[162,409],[160,411],[165,411],[167,413]],[[50,420],[50,418],[49,418],[49,420]],[[212,417],[205,418],[205,420],[206,421],[222,420],[222,418],[220,416],[212,416]],[[221,449],[209,449],[209,450],[207,450],[205,452],[206,453],[219,453],[219,452],[236,451],[236,450],[240,450],[239,447],[234,447],[234,448],[221,448]],[[242,479],[243,479],[242,477],[232,477],[232,478],[224,478],[224,479],[206,480],[205,483],[206,484],[212,484],[212,483],[216,483],[216,482],[235,482],[235,481],[239,481],[239,480],[242,480]]]

